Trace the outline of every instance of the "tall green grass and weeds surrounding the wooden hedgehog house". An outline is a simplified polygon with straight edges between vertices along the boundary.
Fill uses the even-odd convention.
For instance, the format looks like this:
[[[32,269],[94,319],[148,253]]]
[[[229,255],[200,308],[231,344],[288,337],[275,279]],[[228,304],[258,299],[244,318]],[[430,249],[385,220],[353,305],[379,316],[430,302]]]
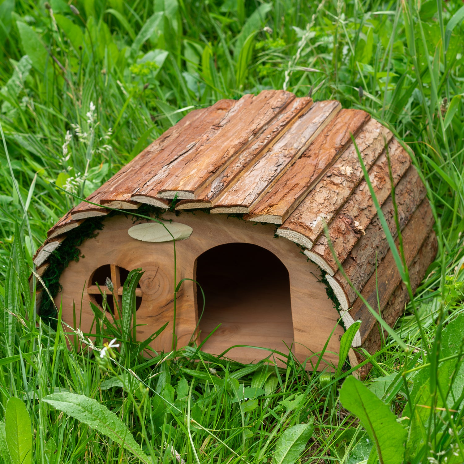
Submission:
[[[291,463],[302,456],[354,464],[367,462],[373,436],[372,463],[400,462],[384,438],[397,440],[401,453],[406,442],[405,462],[463,462],[461,6],[0,0],[0,122],[9,152],[8,160],[0,151],[0,459],[23,462],[21,449],[31,441],[29,419],[8,402],[16,397],[36,438],[25,463],[136,460],[106,409],[89,406],[103,418],[96,425],[63,399],[55,407],[42,400],[73,392],[115,412],[149,459],[163,462],[178,453],[187,463]],[[399,336],[387,338],[364,382],[398,419],[392,414],[394,425],[380,434],[375,414],[367,420],[348,395],[343,400],[350,382],[342,403],[355,414],[342,407],[347,372],[305,373],[291,357],[286,369],[242,366],[194,348],[147,362],[129,334],[110,327],[95,345],[119,334],[124,351],[114,364],[78,353],[77,335],[68,350],[61,324],[55,333],[34,323],[27,266],[47,229],[76,201],[56,185],[86,196],[189,110],[268,88],[312,91],[316,100],[369,111],[414,150],[427,185],[438,256],[397,324]],[[359,392],[359,403],[374,401]],[[15,427],[26,430],[26,445]]]

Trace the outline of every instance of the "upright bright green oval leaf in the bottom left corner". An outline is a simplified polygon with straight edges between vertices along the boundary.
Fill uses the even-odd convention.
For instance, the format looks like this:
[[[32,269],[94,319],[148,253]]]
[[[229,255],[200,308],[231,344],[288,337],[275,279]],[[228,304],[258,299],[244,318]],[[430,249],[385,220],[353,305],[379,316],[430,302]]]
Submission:
[[[31,418],[18,398],[10,398],[6,403],[5,438],[13,464],[32,463]]]

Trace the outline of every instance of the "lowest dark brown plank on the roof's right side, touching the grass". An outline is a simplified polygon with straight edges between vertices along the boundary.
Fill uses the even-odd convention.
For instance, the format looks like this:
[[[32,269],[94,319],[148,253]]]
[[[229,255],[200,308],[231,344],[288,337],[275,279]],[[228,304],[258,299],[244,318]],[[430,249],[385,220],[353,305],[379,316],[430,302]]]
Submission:
[[[429,265],[433,262],[438,250],[437,237],[435,232],[430,232],[429,236],[425,239],[424,244],[422,245],[419,253],[413,259],[411,265],[409,266],[409,277],[411,282],[412,292],[415,292],[419,287],[422,279],[425,276],[425,272]],[[406,304],[409,302],[409,293],[407,291],[406,285],[402,282],[396,287],[390,296],[387,305],[382,310],[382,318],[387,322],[390,327],[393,327],[398,320],[398,318],[404,313]],[[366,321],[369,322],[369,321]],[[363,321],[364,323],[364,321]],[[362,327],[362,325],[361,325]],[[384,334],[387,338],[387,333]],[[366,349],[370,354],[374,354],[382,346],[381,338],[381,329],[379,323],[374,320],[372,328],[367,331],[364,335],[364,342],[361,345],[361,348]],[[365,358],[356,353],[357,362],[361,363]],[[362,378],[366,377],[369,374],[372,365],[370,363],[365,364],[360,369],[358,369],[359,374]]]

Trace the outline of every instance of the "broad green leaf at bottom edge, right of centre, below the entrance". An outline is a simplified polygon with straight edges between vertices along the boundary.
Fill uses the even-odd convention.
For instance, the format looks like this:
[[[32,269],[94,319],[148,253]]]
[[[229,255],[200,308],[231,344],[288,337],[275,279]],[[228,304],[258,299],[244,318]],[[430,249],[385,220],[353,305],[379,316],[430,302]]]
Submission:
[[[293,464],[300,458],[314,432],[314,418],[285,430],[277,440],[272,464]]]

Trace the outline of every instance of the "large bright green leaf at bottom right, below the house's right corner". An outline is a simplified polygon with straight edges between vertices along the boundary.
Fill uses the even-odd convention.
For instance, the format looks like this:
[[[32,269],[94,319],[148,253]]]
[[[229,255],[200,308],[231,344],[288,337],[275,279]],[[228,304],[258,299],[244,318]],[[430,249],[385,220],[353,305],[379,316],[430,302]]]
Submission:
[[[340,401],[343,407],[359,417],[376,445],[382,464],[402,462],[406,430],[396,422],[396,417],[385,403],[354,377],[343,382]]]

